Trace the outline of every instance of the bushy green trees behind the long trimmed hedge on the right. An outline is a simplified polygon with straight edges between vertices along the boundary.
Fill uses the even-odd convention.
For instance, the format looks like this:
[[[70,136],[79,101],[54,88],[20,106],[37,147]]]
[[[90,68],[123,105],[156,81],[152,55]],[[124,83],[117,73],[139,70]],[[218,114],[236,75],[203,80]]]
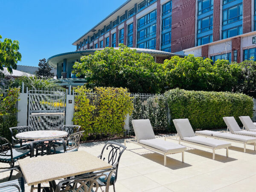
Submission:
[[[164,61],[167,89],[232,91],[241,68],[229,64],[227,60],[218,60],[211,64],[209,58],[172,57]]]

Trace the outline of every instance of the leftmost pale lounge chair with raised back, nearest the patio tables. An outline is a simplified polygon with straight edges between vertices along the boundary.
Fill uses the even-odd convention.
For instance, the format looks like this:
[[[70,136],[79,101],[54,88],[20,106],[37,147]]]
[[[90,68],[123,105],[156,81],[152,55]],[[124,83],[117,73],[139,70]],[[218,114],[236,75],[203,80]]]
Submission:
[[[167,154],[182,153],[182,162],[184,162],[185,146],[156,139],[149,119],[134,119],[131,122],[136,138],[125,140],[125,145],[126,142],[131,142],[152,151],[164,154],[164,166],[166,166]]]

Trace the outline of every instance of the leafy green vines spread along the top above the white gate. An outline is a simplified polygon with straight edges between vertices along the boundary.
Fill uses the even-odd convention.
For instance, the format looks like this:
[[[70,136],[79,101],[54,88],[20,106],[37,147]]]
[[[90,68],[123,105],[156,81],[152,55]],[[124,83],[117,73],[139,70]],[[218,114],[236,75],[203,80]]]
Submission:
[[[28,87],[29,90],[64,90],[61,86],[55,83],[55,80],[49,79],[39,79],[38,77],[28,77],[28,76],[20,76],[17,79],[1,79],[0,85],[6,87],[22,87],[22,82],[24,82],[24,87]]]

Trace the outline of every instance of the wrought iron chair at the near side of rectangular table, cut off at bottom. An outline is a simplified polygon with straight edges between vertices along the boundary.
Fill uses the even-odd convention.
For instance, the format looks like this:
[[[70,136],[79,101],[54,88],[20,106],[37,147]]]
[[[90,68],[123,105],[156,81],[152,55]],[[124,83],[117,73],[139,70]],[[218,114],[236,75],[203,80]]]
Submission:
[[[56,186],[55,192],[98,192],[98,190],[101,189],[101,186],[106,186],[105,192],[108,192],[111,175],[115,171],[115,168],[111,168],[109,169],[109,175],[106,175],[104,171],[101,171],[62,180]],[[106,178],[105,184],[99,181],[100,177]],[[101,189],[101,191],[103,190]]]

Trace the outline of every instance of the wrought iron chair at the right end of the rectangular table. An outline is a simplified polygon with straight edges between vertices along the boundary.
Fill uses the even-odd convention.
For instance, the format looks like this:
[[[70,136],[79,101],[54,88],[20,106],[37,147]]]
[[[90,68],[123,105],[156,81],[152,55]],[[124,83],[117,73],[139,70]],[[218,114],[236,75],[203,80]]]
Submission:
[[[125,151],[125,149],[126,149],[125,145],[122,145],[113,141],[108,141],[108,143],[104,145],[102,149],[102,153],[98,156],[100,159],[107,161],[109,164],[111,164],[112,165],[111,169],[115,169],[114,172],[110,172],[111,169],[104,170],[106,175],[111,175],[110,185],[113,185],[114,192],[116,191],[115,183],[117,179],[117,170],[119,166],[119,160],[122,153]],[[104,175],[99,177],[99,180],[101,183],[104,183],[104,185],[107,184],[106,183],[107,180]]]

